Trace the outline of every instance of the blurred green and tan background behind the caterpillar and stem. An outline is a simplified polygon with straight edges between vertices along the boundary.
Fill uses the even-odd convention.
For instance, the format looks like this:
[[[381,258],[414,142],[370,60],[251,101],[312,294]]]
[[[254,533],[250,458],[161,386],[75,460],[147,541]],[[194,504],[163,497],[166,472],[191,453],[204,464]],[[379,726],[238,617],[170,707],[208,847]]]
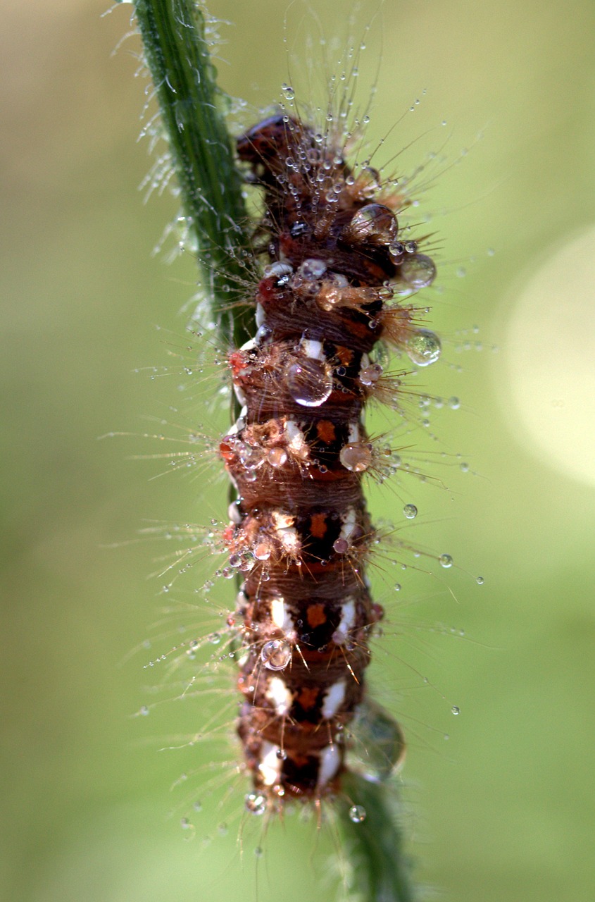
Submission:
[[[127,459],[146,453],[141,438],[97,441],[160,431],[147,418],[171,422],[176,367],[158,380],[133,370],[168,363],[155,326],[183,334],[179,310],[196,279],[188,256],[169,267],[151,256],[176,204],[165,195],[143,206],[137,190],[150,165],[147,142],[137,143],[147,82],[134,78],[136,39],[112,55],[131,7],[104,18],[96,0],[4,8],[3,895],[253,898],[239,816],[226,836],[216,811],[193,817],[194,831],[179,826],[184,798],[169,787],[206,747],[158,753],[162,736],[199,728],[200,704],[184,705],[183,723],[173,702],[154,722],[152,711],[131,716],[160,682],[143,667],[150,651],[127,656],[162,599],[160,581],[145,578],[155,549],[127,540],[143,520],[223,517],[225,495],[222,481],[207,494],[200,474],[152,481],[166,465]],[[287,8],[211,5],[234,23],[223,28],[223,85],[255,111],[281,82],[305,83],[293,66],[288,75]],[[324,0],[316,13],[327,34],[344,34],[343,7]],[[408,497],[406,483],[388,500],[373,493],[377,517],[399,525],[402,502],[416,501],[414,539],[459,565],[418,583],[401,575],[401,605],[385,560],[375,575],[389,624],[371,683],[409,740],[403,793],[417,875],[457,902],[590,902],[595,7],[386,0],[364,5],[358,22],[374,15],[361,66],[365,97],[380,60],[371,135],[406,113],[379,160],[417,138],[397,169],[444,141],[449,161],[470,148],[424,207],[436,214],[444,286],[433,301],[445,363],[428,373],[428,391],[462,399],[461,410],[437,411],[437,447],[462,453],[470,472],[449,457],[448,492],[412,484]],[[316,59],[316,46],[304,51],[307,33],[317,40],[312,12],[292,5],[288,22],[288,43]],[[459,354],[465,341],[471,350]],[[196,394],[184,422],[194,416],[216,436],[225,412]],[[212,483],[214,466],[206,472]],[[233,695],[221,704],[233,710]],[[190,797],[200,780],[189,778]],[[262,845],[261,902],[333,897],[319,881],[332,838],[311,824],[273,825]],[[314,878],[313,851],[323,862]]]

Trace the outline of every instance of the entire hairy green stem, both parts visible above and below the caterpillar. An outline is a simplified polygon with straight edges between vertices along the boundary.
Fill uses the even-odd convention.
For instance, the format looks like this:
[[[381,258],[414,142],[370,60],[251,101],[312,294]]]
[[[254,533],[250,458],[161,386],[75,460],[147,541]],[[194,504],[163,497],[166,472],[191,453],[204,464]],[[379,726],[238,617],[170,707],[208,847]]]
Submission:
[[[133,5],[212,311],[224,339],[239,347],[253,326],[252,310],[231,303],[245,281],[241,262],[249,244],[243,231],[247,217],[224,122],[224,95],[216,87],[209,56],[205,15],[189,0],[133,0]],[[344,791],[338,811],[354,893],[366,902],[411,902],[402,838],[389,804],[391,790],[348,773]],[[361,824],[349,817],[353,804],[366,810]]]

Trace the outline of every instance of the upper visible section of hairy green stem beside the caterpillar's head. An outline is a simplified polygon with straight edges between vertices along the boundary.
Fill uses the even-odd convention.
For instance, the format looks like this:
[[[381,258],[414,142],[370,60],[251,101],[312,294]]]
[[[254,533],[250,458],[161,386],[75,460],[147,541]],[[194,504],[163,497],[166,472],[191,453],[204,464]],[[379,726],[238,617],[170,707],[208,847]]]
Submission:
[[[133,5],[212,312],[224,339],[239,347],[252,326],[250,308],[231,306],[246,279],[247,216],[222,109],[228,98],[216,86],[205,14],[191,0]]]

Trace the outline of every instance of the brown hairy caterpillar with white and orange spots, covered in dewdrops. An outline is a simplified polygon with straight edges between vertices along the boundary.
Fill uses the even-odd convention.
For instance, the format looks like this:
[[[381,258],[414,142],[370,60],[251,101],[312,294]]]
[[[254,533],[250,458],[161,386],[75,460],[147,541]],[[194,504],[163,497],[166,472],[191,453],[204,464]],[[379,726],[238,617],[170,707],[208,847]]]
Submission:
[[[362,413],[374,397],[398,408],[399,382],[373,352],[382,340],[425,366],[440,342],[421,308],[396,299],[435,278],[399,231],[403,194],[382,190],[375,170],[356,175],[334,133],[285,114],[237,150],[264,192],[256,235],[270,260],[256,335],[229,357],[242,410],[220,446],[237,492],[224,541],[245,577],[230,619],[243,645],[237,731],[246,805],[261,813],[340,790],[383,616],[365,576],[374,529],[362,478],[378,452]]]

